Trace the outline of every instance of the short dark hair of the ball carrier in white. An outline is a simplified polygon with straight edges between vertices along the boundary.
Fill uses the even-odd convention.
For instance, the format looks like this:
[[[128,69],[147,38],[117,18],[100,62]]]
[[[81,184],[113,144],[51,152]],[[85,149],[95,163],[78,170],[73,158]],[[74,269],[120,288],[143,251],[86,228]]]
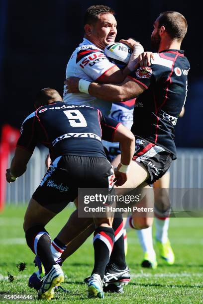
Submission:
[[[85,24],[94,24],[97,22],[99,15],[110,13],[115,14],[115,11],[106,5],[92,5],[90,6],[84,15],[84,25]]]

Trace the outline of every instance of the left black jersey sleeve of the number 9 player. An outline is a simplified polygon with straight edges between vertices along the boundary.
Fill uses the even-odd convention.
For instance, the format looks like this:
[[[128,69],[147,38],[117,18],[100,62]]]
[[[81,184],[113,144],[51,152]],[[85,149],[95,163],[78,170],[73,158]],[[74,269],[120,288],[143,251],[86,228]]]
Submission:
[[[35,112],[27,116],[23,121],[20,129],[20,137],[17,141],[16,147],[23,148],[30,153],[33,153],[37,144],[36,136],[36,116]]]

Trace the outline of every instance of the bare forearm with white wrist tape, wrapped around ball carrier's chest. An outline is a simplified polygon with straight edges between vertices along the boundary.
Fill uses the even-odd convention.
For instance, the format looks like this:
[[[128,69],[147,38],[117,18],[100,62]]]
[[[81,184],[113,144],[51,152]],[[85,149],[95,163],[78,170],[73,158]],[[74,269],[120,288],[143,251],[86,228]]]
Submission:
[[[119,84],[99,84],[92,82],[88,91],[90,95],[110,102],[121,102],[136,97],[132,91]]]

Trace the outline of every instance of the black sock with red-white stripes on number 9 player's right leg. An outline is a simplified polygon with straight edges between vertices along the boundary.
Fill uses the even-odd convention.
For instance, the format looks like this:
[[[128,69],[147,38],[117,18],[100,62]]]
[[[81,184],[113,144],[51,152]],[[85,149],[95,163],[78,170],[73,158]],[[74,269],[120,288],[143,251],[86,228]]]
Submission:
[[[108,264],[109,256],[114,242],[114,231],[112,228],[99,227],[94,233],[95,266],[92,273],[97,273],[103,280],[105,267]]]

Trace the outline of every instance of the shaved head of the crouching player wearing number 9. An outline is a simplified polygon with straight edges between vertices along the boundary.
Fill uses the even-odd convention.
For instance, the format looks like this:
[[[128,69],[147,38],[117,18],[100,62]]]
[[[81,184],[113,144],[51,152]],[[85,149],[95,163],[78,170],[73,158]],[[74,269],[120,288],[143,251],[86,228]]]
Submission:
[[[34,105],[36,108],[39,108],[40,106],[49,104],[53,101],[63,101],[63,99],[57,90],[46,87],[37,93]]]

